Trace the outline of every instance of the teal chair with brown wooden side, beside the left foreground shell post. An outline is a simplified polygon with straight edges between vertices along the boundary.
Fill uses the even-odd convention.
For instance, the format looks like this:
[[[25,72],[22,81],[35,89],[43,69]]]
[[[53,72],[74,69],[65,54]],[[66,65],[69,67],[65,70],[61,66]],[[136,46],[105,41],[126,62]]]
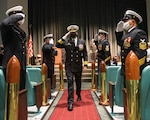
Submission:
[[[33,75],[35,73],[33,72]],[[36,105],[38,108],[38,111],[40,107],[42,106],[42,82],[39,78],[37,78],[37,75],[35,76],[35,79],[32,75],[32,72],[30,73],[28,69],[26,69],[26,89],[27,89],[27,103],[28,106]]]

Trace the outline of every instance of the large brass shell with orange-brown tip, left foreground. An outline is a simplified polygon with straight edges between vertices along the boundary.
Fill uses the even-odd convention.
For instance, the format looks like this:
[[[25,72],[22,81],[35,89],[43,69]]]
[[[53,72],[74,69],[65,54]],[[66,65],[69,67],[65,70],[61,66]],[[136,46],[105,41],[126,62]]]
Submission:
[[[18,92],[20,81],[20,63],[13,55],[7,64],[5,120],[18,120]]]

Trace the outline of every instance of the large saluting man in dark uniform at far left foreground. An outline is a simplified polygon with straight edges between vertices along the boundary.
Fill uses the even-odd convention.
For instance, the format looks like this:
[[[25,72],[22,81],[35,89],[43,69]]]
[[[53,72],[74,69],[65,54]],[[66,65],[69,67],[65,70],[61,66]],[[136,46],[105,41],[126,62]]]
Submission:
[[[22,6],[15,6],[6,11],[7,18],[1,24],[1,36],[4,45],[3,69],[6,77],[6,67],[9,59],[15,55],[21,66],[20,90],[25,88],[26,81],[26,33],[20,28],[24,23],[25,14]]]

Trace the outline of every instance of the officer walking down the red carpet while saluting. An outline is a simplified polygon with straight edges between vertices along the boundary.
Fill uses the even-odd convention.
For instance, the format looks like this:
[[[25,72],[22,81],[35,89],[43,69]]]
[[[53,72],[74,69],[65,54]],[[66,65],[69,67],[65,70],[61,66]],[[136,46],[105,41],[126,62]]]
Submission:
[[[66,61],[65,70],[68,81],[68,110],[73,110],[74,103],[74,77],[76,82],[77,101],[81,100],[81,76],[82,69],[86,70],[88,65],[88,56],[85,41],[78,38],[77,25],[67,27],[69,31],[56,43],[56,47],[65,48]],[[82,60],[84,59],[84,65]]]

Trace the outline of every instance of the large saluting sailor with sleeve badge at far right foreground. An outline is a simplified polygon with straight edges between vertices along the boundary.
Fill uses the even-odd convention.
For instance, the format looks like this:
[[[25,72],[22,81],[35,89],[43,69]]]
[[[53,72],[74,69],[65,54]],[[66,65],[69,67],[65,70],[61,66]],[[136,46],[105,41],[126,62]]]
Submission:
[[[146,64],[147,56],[147,34],[138,28],[138,24],[143,21],[142,17],[132,10],[127,10],[122,21],[118,22],[116,28],[117,44],[121,47],[121,74],[125,75],[125,59],[130,50],[134,51],[139,59],[140,73]],[[123,31],[126,34],[123,34]]]

